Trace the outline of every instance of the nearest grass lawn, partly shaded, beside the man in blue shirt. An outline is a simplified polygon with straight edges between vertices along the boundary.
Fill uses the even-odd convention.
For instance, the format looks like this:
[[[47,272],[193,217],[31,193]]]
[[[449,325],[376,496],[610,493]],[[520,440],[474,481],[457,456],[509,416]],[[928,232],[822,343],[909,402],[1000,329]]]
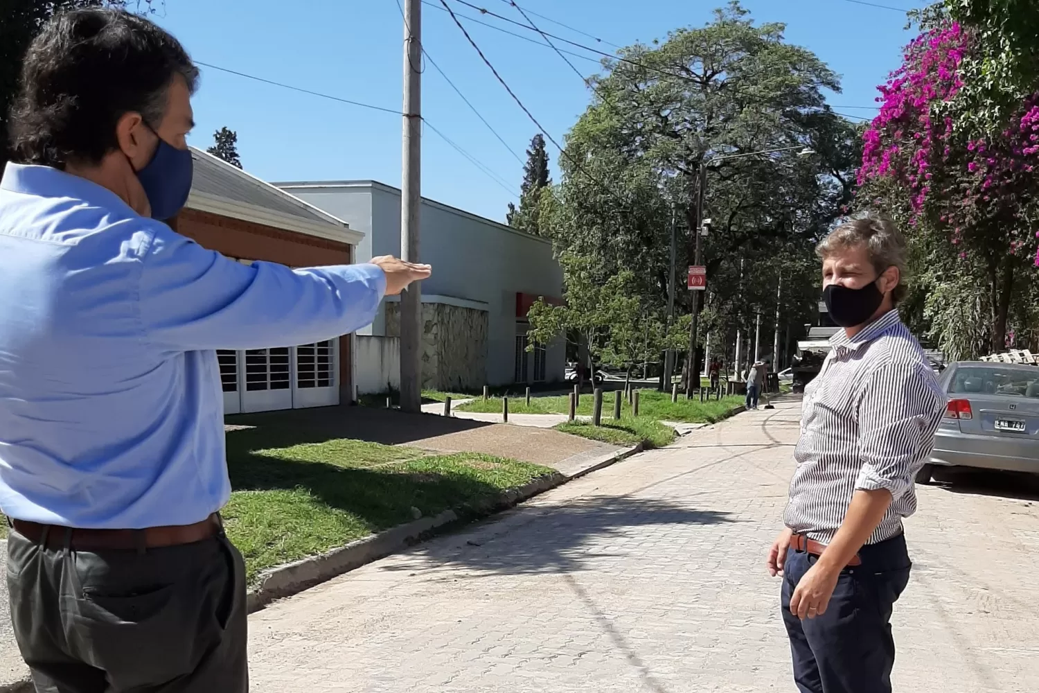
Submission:
[[[252,584],[261,570],[490,498],[551,470],[476,453],[334,439],[282,446],[260,429],[228,433],[234,491],[228,535]]]

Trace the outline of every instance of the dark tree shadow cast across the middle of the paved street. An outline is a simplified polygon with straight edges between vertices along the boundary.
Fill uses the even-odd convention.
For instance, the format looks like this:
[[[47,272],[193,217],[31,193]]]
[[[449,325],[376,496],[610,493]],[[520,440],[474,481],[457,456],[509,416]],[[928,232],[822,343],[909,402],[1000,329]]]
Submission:
[[[536,531],[527,526],[538,523]],[[629,549],[627,530],[647,525],[719,525],[737,522],[727,512],[700,510],[657,500],[600,497],[567,505],[506,514],[467,535],[467,543],[437,541],[382,569],[454,566],[505,575],[576,572],[619,562]],[[590,549],[588,539],[596,539]],[[610,541],[610,538],[616,542]],[[634,550],[634,547],[632,548]],[[644,547],[643,547],[644,550]]]

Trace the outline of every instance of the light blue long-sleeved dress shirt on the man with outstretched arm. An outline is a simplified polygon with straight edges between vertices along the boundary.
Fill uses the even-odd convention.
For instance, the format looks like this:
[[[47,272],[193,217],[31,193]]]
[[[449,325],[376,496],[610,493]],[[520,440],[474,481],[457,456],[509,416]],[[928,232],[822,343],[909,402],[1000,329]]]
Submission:
[[[231,494],[215,349],[347,335],[374,265],[246,266],[46,166],[0,183],[0,509],[78,528],[188,525]]]

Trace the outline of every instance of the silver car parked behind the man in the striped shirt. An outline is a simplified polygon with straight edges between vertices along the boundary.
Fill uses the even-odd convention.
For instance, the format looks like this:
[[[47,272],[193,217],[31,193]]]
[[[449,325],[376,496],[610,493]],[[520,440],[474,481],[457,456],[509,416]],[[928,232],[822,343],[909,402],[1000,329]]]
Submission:
[[[940,382],[949,404],[917,482],[939,464],[1039,473],[1039,368],[958,362]]]

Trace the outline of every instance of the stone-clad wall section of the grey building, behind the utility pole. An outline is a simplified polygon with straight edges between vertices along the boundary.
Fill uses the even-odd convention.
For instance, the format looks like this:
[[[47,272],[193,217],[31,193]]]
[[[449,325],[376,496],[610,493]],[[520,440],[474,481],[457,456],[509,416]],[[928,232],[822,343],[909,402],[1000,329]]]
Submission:
[[[487,379],[487,312],[422,304],[422,387],[478,391]],[[400,337],[400,303],[387,303],[387,337]]]

